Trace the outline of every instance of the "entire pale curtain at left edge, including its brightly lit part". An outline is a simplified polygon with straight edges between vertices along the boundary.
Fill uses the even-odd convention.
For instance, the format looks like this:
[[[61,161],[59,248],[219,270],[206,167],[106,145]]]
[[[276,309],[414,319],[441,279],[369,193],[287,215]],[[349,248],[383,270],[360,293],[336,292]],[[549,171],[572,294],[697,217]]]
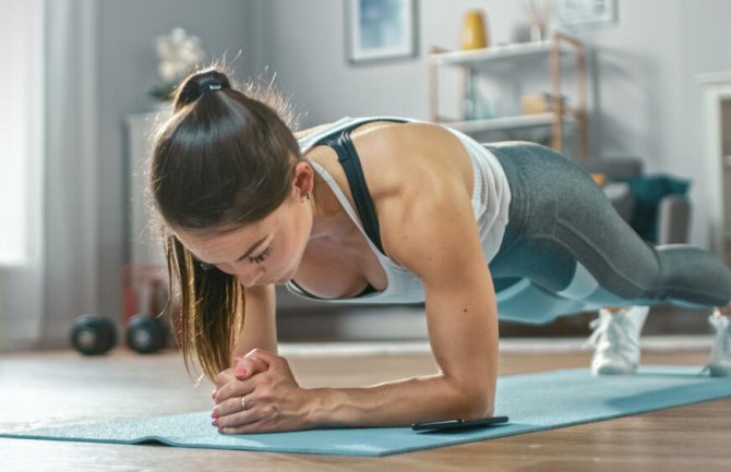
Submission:
[[[98,307],[97,1],[0,8],[0,350],[68,346]]]

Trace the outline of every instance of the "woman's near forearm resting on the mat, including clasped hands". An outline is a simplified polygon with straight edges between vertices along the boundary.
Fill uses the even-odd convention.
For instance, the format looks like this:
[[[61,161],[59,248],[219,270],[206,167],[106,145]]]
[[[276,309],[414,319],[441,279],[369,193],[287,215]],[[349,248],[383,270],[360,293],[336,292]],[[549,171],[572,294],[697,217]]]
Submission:
[[[491,416],[495,358],[481,354],[480,362],[452,363],[431,376],[362,388],[307,389],[297,384],[285,358],[254,350],[236,370],[217,377],[214,425],[225,434],[243,434]]]

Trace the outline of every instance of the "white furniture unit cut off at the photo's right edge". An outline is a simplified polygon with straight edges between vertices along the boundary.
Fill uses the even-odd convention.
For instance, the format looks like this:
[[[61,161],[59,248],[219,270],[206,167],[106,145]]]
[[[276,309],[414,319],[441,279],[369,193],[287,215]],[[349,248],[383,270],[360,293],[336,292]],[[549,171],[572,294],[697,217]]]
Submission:
[[[697,76],[703,95],[706,158],[712,176],[708,185],[711,207],[711,245],[731,266],[731,72]]]

